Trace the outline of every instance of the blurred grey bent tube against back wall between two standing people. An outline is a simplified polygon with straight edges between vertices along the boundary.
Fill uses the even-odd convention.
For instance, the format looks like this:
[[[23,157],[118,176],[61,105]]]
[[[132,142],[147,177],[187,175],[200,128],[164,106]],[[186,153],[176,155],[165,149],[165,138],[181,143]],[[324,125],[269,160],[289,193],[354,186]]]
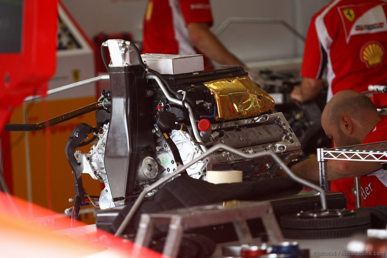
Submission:
[[[281,24],[291,33],[293,33],[293,35],[300,38],[302,41],[305,41],[305,37],[296,31],[296,29],[290,26],[287,22],[281,19],[272,18],[229,17],[228,19],[224,20],[224,22],[214,31],[214,34],[219,36],[231,23]]]

